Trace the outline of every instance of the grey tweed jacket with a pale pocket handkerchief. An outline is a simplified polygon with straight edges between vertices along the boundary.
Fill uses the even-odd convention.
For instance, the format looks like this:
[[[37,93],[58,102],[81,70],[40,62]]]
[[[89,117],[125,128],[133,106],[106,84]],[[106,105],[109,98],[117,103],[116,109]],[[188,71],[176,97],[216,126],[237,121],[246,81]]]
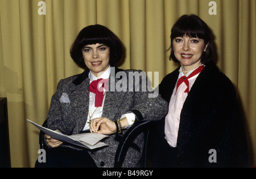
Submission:
[[[114,72],[113,72],[114,70]],[[133,111],[137,120],[159,120],[168,110],[167,102],[158,97],[148,98],[150,92],[148,90],[129,90],[129,72],[138,72],[141,70],[122,70],[112,68],[110,74],[121,72],[123,75],[115,76],[114,83],[109,80],[108,91],[106,93],[103,114],[110,120],[117,120],[122,114]],[[57,85],[57,91],[52,96],[51,105],[48,113],[48,128],[52,130],[60,130],[64,134],[73,135],[79,134],[85,126],[88,108],[89,108],[89,70],[83,73],[60,80]],[[127,90],[119,91],[127,86]],[[133,87],[141,86],[142,82],[134,80]],[[113,91],[114,89],[114,91]],[[152,93],[152,92],[151,92]],[[89,152],[98,167],[113,167],[114,156],[118,141],[115,141],[115,134],[109,135],[104,140],[108,147],[100,148],[96,151]],[[140,134],[134,141],[135,144],[143,151],[144,135]],[[71,146],[69,146],[71,147]],[[72,146],[73,147],[73,146]],[[123,167],[138,167],[141,159],[141,152],[134,148],[129,148]]]

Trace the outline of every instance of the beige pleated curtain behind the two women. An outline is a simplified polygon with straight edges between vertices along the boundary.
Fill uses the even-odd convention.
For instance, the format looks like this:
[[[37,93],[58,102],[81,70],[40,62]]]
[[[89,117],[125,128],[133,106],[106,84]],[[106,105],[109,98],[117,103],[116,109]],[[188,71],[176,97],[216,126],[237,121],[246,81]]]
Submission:
[[[217,65],[236,86],[256,165],[255,0],[0,0],[0,97],[8,101],[11,166],[34,166],[39,131],[26,119],[42,124],[57,82],[82,72],[69,48],[83,27],[115,32],[126,49],[119,67],[153,72],[154,87],[176,68],[166,50],[183,14],[212,28]]]

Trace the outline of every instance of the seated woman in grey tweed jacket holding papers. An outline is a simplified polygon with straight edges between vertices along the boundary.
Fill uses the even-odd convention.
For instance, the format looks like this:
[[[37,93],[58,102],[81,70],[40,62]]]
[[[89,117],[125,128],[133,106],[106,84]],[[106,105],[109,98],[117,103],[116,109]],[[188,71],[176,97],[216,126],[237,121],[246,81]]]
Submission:
[[[129,72],[113,64],[122,57],[122,43],[100,24],[83,28],[71,47],[71,57],[85,69],[81,74],[60,80],[52,96],[47,127],[66,135],[96,132],[108,135],[107,147],[85,149],[45,135],[47,162],[36,167],[113,167],[118,147],[117,135],[123,135],[136,120],[160,120],[167,113],[167,102],[149,98],[151,90],[118,90],[112,85],[129,84]],[[112,74],[122,72],[122,78]],[[114,84],[109,82],[114,78]],[[127,83],[127,84],[124,84]],[[142,86],[142,81],[133,84]],[[134,89],[133,88],[133,89]],[[151,91],[152,93],[152,91]],[[139,134],[127,153],[123,167],[137,167],[141,160],[144,135]],[[135,147],[134,147],[135,145]]]

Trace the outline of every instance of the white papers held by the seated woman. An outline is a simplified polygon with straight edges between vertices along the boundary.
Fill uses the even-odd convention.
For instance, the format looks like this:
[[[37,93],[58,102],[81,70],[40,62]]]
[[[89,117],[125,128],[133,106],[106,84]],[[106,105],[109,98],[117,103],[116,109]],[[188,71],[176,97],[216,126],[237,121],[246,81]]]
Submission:
[[[61,132],[53,131],[46,127],[40,126],[32,122],[31,120],[27,119],[27,121],[32,123],[35,127],[39,128],[45,134],[51,136],[51,138],[56,140],[71,143],[71,144],[78,145],[80,147],[89,148],[89,149],[104,147],[108,145],[100,141],[101,139],[106,138],[107,135],[98,134],[98,133],[82,133],[82,134],[75,134],[75,135],[65,135],[65,134],[62,134]]]

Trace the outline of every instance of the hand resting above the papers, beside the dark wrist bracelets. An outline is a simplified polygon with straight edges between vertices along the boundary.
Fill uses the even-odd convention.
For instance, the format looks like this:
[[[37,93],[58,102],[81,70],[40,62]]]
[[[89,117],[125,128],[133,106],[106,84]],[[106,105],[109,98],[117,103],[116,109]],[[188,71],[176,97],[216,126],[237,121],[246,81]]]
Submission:
[[[105,117],[95,118],[90,123],[90,132],[97,132],[99,134],[110,135],[117,131],[115,123]]]

